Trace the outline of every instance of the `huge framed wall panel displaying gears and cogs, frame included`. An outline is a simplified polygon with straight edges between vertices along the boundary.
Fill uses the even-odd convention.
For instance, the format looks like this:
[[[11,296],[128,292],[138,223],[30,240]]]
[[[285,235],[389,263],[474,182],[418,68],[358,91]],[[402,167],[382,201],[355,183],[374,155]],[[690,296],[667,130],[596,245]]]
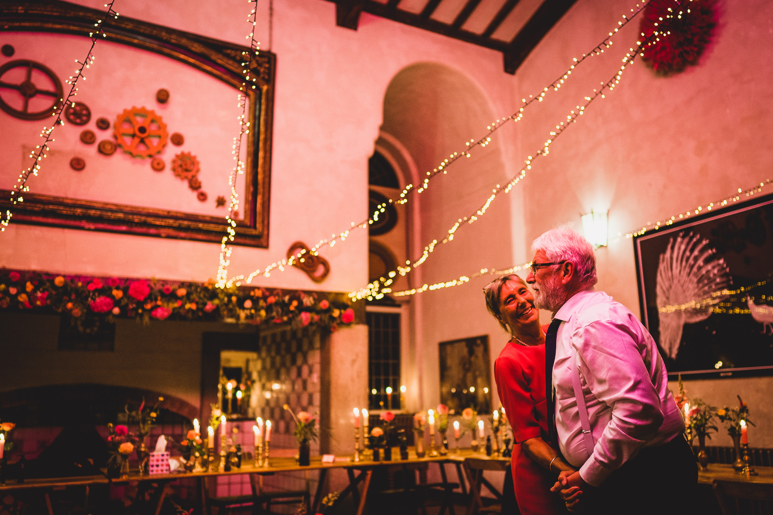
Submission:
[[[103,17],[66,2],[0,6],[3,43],[15,52],[0,62],[0,124],[12,127],[0,148],[0,184],[32,164],[38,134],[53,120],[46,110],[54,93],[69,91],[73,59],[86,55],[89,31]],[[250,60],[257,84],[241,92],[247,47],[124,16],[103,28],[107,37],[94,47],[78,105],[63,116],[43,169],[23,203],[11,206],[10,191],[0,190],[0,209],[11,208],[15,223],[220,242],[243,112],[250,130],[235,185],[234,243],[267,247],[274,54],[261,50]],[[26,97],[19,84],[40,94]]]

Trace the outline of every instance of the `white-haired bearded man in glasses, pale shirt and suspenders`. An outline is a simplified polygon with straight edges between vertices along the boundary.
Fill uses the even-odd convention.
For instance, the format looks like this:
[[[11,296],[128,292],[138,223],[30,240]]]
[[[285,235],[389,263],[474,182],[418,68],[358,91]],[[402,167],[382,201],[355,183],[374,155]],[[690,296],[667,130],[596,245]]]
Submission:
[[[550,429],[578,469],[561,473],[553,491],[583,513],[685,513],[697,466],[655,341],[630,310],[594,290],[594,250],[577,232],[552,229],[532,249],[526,280],[536,306],[553,312]]]

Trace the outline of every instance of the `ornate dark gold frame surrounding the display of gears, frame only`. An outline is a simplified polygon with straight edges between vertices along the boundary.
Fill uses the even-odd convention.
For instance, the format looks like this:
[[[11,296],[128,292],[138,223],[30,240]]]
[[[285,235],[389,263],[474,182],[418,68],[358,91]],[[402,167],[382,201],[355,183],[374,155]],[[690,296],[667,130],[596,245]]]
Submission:
[[[0,29],[14,32],[53,32],[88,36],[104,12],[67,2],[0,2]],[[148,50],[185,63],[235,88],[242,84],[242,53],[249,49],[190,32],[119,16],[108,19],[106,41]],[[257,87],[248,89],[246,113],[250,122],[244,173],[246,198],[240,208],[233,243],[268,246],[269,188],[271,184],[271,127],[276,56],[261,50],[249,63]],[[255,130],[257,129],[257,130]],[[236,134],[234,134],[236,135]],[[4,185],[7,186],[7,185]],[[0,209],[12,208],[13,222],[68,227],[172,239],[220,242],[226,233],[224,216],[198,215],[137,205],[94,202],[53,195],[26,193],[24,202],[11,206],[10,190],[0,189]]]

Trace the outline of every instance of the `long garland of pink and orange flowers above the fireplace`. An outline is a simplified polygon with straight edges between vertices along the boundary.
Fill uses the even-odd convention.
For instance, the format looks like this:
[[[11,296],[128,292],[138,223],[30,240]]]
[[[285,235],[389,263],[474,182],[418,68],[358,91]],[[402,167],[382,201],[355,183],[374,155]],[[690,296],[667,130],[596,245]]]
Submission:
[[[56,276],[0,270],[0,311],[61,313],[83,333],[117,318],[291,324],[335,331],[354,322],[349,303],[317,293],[265,288],[216,288],[207,283]]]

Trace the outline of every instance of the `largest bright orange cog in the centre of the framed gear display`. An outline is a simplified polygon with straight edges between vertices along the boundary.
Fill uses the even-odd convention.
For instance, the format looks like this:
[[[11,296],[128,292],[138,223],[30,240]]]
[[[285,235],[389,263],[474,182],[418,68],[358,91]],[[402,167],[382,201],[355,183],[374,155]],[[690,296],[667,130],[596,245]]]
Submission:
[[[152,158],[166,146],[164,120],[145,107],[124,110],[115,120],[115,142],[135,158]]]

